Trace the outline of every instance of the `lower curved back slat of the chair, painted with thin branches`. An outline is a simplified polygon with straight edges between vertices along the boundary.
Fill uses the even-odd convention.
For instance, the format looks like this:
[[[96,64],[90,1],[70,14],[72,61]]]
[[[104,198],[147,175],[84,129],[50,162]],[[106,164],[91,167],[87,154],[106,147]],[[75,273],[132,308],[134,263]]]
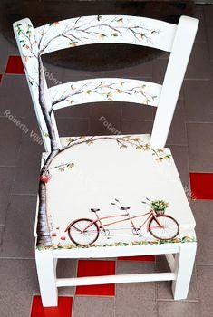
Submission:
[[[101,101],[126,101],[157,107],[160,91],[160,84],[121,78],[68,82],[49,89],[53,110]]]

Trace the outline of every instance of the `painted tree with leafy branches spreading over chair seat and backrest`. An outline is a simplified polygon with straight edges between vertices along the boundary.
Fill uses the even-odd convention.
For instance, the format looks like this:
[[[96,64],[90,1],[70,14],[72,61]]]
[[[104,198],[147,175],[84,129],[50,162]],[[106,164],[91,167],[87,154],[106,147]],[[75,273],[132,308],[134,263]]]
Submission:
[[[24,69],[34,100],[34,108],[37,113],[40,130],[43,138],[48,138],[50,142],[50,152],[45,159],[44,166],[41,169],[39,181],[39,207],[37,221],[37,246],[51,247],[52,240],[49,232],[47,213],[46,213],[46,183],[50,179],[49,167],[53,159],[66,149],[79,146],[82,143],[91,145],[100,139],[111,139],[117,142],[121,149],[128,146],[134,149],[150,150],[157,160],[169,159],[169,155],[165,154],[161,149],[151,149],[149,144],[144,144],[140,138],[134,136],[105,136],[105,137],[86,137],[86,138],[70,138],[67,145],[60,149],[56,133],[53,126],[53,106],[62,102],[69,101],[73,104],[73,98],[82,94],[101,94],[106,101],[113,101],[114,93],[122,94],[140,94],[144,97],[144,103],[149,104],[154,101],[156,96],[150,95],[146,91],[146,86],[131,87],[123,89],[122,82],[118,87],[115,83],[107,84],[100,82],[94,88],[88,88],[82,85],[80,89],[72,89],[69,92],[63,91],[62,95],[57,99],[50,101],[46,91],[46,82],[44,79],[44,69],[42,62],[42,54],[53,52],[59,48],[73,47],[86,43],[102,43],[104,41],[116,43],[118,38],[122,38],[123,34],[128,33],[129,36],[138,43],[152,43],[156,34],[160,34],[160,30],[154,30],[146,27],[145,24],[133,24],[126,17],[108,16],[103,19],[101,15],[88,17],[87,22],[82,18],[63,21],[63,24],[55,22],[53,24],[44,25],[34,32],[33,25],[28,19],[24,19],[23,23],[15,25],[16,37],[20,44]],[[110,40],[109,40],[110,39]],[[132,40],[133,41],[133,40]],[[102,89],[104,88],[104,92]],[[70,165],[72,162],[67,162]],[[61,167],[62,168],[62,167]]]

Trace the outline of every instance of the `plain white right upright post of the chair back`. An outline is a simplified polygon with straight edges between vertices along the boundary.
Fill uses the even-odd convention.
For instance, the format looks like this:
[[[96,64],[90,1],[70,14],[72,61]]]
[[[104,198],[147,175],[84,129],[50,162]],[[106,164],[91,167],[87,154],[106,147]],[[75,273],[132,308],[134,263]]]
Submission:
[[[198,19],[180,17],[151,132],[150,146],[153,148],[163,148],[166,144],[197,30]]]

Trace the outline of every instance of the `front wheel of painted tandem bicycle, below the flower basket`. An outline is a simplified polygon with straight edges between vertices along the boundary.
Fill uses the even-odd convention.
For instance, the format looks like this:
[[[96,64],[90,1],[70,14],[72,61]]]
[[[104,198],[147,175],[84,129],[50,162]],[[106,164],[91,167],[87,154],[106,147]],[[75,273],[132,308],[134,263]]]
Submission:
[[[151,218],[148,226],[151,235],[160,240],[171,240],[179,235],[179,224],[172,216],[157,215],[156,217],[161,226],[154,217]]]

